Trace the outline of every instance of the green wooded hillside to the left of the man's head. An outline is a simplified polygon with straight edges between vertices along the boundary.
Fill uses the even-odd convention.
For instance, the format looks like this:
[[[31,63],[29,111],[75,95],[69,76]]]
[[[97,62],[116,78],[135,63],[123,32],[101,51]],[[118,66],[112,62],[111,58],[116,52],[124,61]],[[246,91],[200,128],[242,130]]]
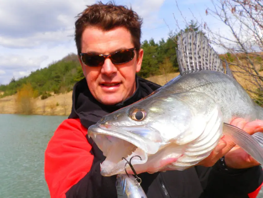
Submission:
[[[23,84],[30,83],[35,91],[34,97],[38,97],[46,95],[46,92],[71,91],[73,84],[82,78],[83,73],[78,56],[69,54],[46,68],[31,72],[27,77],[11,79],[8,85],[0,85],[0,92],[2,97],[11,96],[17,93]]]

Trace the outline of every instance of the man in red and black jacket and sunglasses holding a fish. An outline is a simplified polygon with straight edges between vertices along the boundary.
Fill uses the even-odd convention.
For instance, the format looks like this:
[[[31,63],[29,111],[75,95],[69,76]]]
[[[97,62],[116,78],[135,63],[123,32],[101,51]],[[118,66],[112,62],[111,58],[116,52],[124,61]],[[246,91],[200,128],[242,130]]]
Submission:
[[[160,87],[136,76],[143,59],[141,24],[134,11],[112,3],[88,6],[75,22],[85,78],[75,84],[71,115],[59,125],[45,151],[45,178],[52,198],[117,197],[116,176],[101,176],[105,157],[88,138],[87,128]],[[235,119],[232,124],[249,133],[262,130],[258,122]],[[141,173],[142,187],[149,198],[255,198],[263,181],[262,168],[233,146],[222,139],[208,158],[184,171]],[[223,158],[219,160],[223,155],[227,166]]]

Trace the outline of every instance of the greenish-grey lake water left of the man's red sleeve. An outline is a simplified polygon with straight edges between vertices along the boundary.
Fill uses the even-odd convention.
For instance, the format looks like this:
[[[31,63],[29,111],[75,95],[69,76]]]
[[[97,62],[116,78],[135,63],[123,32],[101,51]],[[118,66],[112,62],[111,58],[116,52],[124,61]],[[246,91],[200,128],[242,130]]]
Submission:
[[[0,197],[48,198],[44,152],[67,116],[0,114]],[[263,192],[261,190],[261,196]]]

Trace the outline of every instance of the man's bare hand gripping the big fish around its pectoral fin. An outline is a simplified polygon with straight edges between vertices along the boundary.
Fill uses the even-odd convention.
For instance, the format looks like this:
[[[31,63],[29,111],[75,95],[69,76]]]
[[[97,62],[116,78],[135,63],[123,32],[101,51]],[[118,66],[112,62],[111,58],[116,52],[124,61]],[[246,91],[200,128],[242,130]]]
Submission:
[[[263,120],[246,122],[243,118],[236,118],[232,120],[231,125],[244,130],[250,135],[263,132]],[[222,156],[225,156],[226,166],[233,169],[245,169],[260,165],[251,155],[226,136],[220,139],[218,146],[207,158],[200,161],[198,165],[205,167],[213,166]]]

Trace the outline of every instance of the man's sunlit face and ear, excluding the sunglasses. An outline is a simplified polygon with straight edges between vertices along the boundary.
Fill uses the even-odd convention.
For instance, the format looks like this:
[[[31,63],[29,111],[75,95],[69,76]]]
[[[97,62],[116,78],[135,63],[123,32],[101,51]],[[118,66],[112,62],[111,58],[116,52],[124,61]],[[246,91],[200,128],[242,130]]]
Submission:
[[[87,27],[82,34],[82,53],[108,55],[120,49],[135,47],[130,32],[123,27],[104,31]],[[114,65],[106,58],[102,66],[90,67],[80,60],[88,88],[97,101],[113,105],[130,97],[136,90],[135,74],[140,71],[143,50],[127,63]]]

